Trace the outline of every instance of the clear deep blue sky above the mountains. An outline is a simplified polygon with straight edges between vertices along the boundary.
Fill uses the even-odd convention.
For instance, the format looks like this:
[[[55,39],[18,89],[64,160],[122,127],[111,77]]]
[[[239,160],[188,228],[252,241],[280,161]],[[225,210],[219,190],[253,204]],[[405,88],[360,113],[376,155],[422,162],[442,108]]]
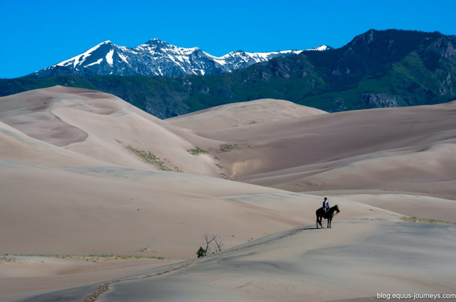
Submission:
[[[369,29],[456,34],[456,1],[0,0],[0,78],[15,78],[111,40],[158,38],[215,56],[342,47]]]

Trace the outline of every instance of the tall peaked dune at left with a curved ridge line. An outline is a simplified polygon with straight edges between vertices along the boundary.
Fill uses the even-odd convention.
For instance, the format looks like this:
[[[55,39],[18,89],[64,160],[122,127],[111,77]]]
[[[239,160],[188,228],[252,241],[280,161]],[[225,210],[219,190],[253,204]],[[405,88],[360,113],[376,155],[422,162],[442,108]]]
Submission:
[[[188,141],[194,135],[99,91],[55,86],[5,97],[1,99],[0,121],[42,142],[106,164],[157,169],[132,153],[131,147],[151,152],[170,170],[218,174],[212,157],[202,154],[194,160],[187,151],[195,148]]]

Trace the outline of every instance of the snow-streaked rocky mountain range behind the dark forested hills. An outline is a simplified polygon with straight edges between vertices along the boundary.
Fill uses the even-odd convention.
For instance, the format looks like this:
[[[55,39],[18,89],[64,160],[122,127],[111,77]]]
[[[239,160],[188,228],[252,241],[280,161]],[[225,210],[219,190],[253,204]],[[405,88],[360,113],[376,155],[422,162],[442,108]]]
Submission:
[[[312,50],[326,50],[321,46]],[[29,76],[44,78],[59,74],[175,76],[204,75],[232,72],[275,57],[299,54],[301,50],[270,53],[231,52],[222,57],[212,56],[199,48],[181,48],[152,39],[135,48],[102,42],[86,52]]]

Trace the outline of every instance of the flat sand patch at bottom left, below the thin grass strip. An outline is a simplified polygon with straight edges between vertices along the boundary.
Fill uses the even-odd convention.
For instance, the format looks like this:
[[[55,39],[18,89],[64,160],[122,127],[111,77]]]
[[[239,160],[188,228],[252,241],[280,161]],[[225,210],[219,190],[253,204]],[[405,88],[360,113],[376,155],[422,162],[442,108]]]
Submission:
[[[2,265],[0,300],[2,301],[96,282],[113,276],[128,275],[175,262],[162,259],[103,257],[15,256],[10,259],[10,261],[0,260]]]

